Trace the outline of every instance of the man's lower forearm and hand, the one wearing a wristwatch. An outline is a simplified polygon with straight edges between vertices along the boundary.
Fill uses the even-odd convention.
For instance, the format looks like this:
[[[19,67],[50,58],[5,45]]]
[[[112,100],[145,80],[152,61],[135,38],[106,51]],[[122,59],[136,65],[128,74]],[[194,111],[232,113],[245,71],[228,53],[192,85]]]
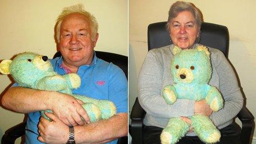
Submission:
[[[39,140],[45,143],[65,143],[68,140],[68,126],[50,113],[45,113],[53,121],[40,118]],[[76,143],[106,143],[118,137],[127,136],[127,113],[119,113],[107,120],[74,126]]]

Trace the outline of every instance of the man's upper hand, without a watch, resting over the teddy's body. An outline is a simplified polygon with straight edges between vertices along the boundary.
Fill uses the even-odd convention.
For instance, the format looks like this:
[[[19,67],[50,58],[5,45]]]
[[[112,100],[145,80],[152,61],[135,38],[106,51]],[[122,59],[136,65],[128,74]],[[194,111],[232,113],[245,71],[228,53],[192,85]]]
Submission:
[[[50,100],[50,108],[52,113],[57,116],[66,125],[84,125],[84,121],[89,124],[90,119],[84,110],[83,102],[73,98],[71,95],[55,93]],[[84,121],[82,120],[82,118]]]

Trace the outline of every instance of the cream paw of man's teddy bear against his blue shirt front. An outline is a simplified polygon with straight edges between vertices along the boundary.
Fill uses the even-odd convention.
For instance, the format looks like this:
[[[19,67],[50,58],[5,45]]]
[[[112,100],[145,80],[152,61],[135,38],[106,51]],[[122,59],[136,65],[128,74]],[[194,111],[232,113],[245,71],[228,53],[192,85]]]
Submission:
[[[68,87],[70,87],[70,89],[80,87],[81,78],[76,73],[68,73],[63,75],[63,77],[66,79]]]

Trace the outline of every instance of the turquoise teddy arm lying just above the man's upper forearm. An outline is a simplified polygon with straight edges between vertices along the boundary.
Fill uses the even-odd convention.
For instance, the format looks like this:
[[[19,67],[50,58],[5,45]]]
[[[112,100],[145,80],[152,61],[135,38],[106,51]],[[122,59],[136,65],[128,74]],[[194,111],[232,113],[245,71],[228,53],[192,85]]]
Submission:
[[[40,90],[49,90],[49,91],[61,91],[67,88],[66,80],[61,76],[49,76],[40,79],[36,84],[35,88]]]

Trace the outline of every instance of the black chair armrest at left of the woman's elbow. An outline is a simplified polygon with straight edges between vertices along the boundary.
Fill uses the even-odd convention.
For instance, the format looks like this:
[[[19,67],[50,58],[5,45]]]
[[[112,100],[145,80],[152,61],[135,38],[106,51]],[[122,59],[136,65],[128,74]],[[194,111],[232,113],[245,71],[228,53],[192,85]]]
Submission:
[[[132,143],[143,143],[143,119],[145,118],[146,111],[141,108],[138,98],[136,98],[134,106],[131,110],[131,129],[130,135],[132,137]]]

